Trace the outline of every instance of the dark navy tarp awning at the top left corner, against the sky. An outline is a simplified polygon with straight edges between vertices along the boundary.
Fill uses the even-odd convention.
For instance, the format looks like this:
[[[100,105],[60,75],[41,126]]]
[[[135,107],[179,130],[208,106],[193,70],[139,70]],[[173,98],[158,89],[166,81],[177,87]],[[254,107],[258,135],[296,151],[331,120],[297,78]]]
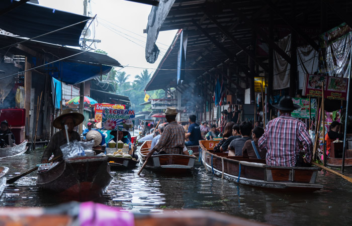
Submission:
[[[1,2],[0,11],[6,11],[12,4],[16,3],[16,1]],[[15,35],[34,38],[82,22],[35,39],[59,45],[79,46],[79,37],[86,20],[89,19],[90,17],[26,3],[1,15],[0,28]]]

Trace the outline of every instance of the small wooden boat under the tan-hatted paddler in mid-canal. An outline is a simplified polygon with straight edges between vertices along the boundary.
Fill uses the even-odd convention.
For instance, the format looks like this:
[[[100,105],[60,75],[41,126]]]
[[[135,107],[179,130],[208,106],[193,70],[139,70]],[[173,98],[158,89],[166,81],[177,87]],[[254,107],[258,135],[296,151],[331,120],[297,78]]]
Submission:
[[[151,141],[145,141],[138,150],[141,161],[144,163],[145,156],[149,153]],[[196,156],[178,155],[178,154],[162,154],[153,155],[145,165],[146,169],[155,170],[164,173],[184,173],[194,167]]]

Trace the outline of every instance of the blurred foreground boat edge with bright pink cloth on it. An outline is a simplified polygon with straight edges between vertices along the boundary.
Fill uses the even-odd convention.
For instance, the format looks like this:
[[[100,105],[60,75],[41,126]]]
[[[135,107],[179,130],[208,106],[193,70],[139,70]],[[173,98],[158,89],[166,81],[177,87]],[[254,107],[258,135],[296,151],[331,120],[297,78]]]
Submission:
[[[163,210],[162,214],[133,213],[100,203],[69,202],[51,207],[2,207],[1,225],[266,225],[210,210]],[[91,214],[86,214],[86,213]],[[99,217],[97,217],[99,216]]]

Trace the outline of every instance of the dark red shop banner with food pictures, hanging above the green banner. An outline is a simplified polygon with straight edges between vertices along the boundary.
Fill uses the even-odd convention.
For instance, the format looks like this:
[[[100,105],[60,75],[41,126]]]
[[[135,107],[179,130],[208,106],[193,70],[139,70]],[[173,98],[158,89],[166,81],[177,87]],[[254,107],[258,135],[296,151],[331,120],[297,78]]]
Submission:
[[[307,74],[303,86],[304,95],[321,97],[322,82],[324,82],[324,98],[346,100],[348,79],[324,75]]]

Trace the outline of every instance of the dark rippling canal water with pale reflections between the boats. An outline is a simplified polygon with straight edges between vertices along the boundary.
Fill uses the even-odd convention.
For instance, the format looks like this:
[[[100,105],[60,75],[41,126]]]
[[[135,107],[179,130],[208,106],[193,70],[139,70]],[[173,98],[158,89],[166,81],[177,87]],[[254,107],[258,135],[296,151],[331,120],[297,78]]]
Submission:
[[[40,162],[43,149],[0,159],[10,175],[25,172]],[[96,200],[141,213],[164,209],[210,209],[274,225],[352,225],[352,183],[320,171],[317,182],[324,188],[313,193],[284,193],[237,185],[206,172],[198,162],[184,176],[163,176],[143,170],[112,172],[107,193]],[[347,176],[352,169],[347,168]],[[55,195],[42,194],[35,172],[7,185],[0,206],[50,206],[62,203]]]

